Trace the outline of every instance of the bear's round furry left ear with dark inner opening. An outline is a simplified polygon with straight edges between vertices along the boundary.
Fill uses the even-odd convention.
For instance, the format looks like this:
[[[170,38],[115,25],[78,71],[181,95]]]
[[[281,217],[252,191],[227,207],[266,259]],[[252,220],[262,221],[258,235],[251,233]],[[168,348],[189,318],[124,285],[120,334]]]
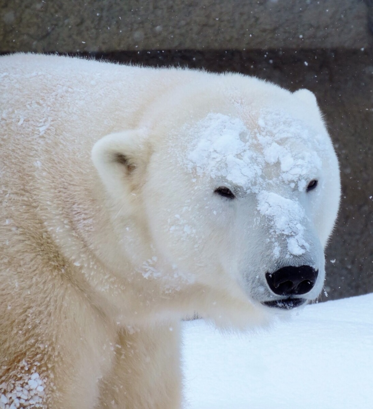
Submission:
[[[106,135],[92,148],[92,162],[106,189],[118,198],[141,187],[150,157],[145,130]]]

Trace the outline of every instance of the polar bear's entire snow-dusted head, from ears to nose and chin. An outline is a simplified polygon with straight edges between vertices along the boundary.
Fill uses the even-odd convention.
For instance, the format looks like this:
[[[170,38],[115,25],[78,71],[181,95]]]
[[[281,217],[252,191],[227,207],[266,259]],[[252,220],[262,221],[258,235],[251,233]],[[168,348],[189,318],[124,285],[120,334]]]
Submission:
[[[109,135],[93,151],[124,217],[142,220],[139,273],[215,321],[245,303],[278,311],[319,296],[340,195],[311,92],[219,78],[165,97],[135,136]]]

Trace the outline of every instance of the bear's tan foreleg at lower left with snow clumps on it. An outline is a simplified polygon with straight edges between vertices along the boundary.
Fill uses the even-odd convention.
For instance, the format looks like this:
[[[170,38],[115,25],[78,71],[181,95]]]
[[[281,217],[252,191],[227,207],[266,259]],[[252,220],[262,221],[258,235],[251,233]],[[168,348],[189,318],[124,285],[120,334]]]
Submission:
[[[37,285],[28,288],[24,277],[13,276],[18,285],[11,286],[7,276],[8,286],[1,293],[2,403],[93,409],[100,380],[114,360],[116,331],[61,274],[45,269],[40,277],[35,272]]]

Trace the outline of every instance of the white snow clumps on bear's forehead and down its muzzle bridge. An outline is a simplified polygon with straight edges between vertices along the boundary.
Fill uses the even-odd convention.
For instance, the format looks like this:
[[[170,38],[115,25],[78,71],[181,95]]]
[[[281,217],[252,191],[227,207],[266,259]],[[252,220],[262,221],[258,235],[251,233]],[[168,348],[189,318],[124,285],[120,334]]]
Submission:
[[[189,171],[225,179],[257,194],[257,210],[270,222],[273,255],[277,238],[286,238],[288,256],[309,249],[304,239],[306,215],[295,196],[285,198],[271,187],[289,185],[303,191],[317,177],[325,139],[283,111],[262,110],[247,126],[241,119],[210,113],[186,129],[192,143],[186,155]],[[276,165],[275,165],[276,164]]]

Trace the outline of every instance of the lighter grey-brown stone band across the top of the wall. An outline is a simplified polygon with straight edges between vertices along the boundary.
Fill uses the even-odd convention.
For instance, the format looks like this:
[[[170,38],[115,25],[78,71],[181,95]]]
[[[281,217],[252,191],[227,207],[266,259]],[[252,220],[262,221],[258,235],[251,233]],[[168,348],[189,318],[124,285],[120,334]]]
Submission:
[[[362,0],[1,0],[7,51],[356,48]]]

